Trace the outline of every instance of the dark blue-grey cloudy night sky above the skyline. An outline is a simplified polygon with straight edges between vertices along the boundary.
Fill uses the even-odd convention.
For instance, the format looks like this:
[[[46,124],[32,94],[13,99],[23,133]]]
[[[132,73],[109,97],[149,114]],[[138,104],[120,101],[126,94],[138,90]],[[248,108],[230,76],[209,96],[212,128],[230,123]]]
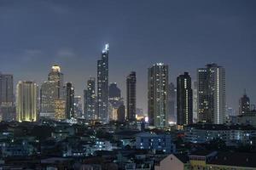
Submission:
[[[83,95],[109,43],[109,82],[125,97],[137,71],[137,107],[147,111],[147,68],[170,67],[170,82],[215,62],[226,68],[227,105],[238,109],[247,89],[256,104],[256,1],[0,0],[0,71],[19,80],[47,79],[61,65],[65,82]]]

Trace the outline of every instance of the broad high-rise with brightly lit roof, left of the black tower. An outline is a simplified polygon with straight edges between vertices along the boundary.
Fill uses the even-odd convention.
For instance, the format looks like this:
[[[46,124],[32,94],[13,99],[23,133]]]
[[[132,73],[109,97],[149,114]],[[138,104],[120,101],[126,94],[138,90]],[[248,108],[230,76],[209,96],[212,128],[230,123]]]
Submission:
[[[168,65],[157,63],[148,68],[148,121],[154,127],[166,127]]]

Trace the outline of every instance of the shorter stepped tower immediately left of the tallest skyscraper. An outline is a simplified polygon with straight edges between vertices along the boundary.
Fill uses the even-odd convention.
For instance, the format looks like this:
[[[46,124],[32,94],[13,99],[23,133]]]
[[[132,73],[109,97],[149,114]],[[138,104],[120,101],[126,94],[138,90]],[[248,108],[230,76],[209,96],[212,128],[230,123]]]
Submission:
[[[90,77],[87,81],[87,88],[84,89],[84,118],[86,120],[95,120],[97,118],[95,82],[95,78]]]

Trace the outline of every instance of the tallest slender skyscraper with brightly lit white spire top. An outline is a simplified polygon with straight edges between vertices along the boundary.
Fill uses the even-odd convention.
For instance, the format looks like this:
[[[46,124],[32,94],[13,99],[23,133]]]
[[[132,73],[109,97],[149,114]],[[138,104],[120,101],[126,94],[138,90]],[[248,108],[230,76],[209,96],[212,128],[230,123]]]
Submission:
[[[97,114],[102,122],[108,122],[108,44],[97,61]]]

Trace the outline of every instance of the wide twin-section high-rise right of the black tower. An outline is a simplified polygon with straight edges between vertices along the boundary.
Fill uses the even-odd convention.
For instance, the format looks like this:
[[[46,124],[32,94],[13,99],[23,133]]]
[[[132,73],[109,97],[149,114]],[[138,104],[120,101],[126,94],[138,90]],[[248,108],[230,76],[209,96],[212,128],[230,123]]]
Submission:
[[[225,70],[209,64],[197,70],[199,122],[225,122]]]

